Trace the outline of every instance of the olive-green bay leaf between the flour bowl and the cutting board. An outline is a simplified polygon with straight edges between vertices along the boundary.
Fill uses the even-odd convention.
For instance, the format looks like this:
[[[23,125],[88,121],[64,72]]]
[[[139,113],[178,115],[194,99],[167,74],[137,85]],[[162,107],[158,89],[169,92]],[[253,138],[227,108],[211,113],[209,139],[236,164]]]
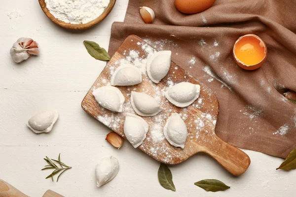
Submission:
[[[111,59],[107,51],[104,48],[101,48],[96,42],[84,40],[83,44],[89,55],[93,58],[102,61],[108,61]]]

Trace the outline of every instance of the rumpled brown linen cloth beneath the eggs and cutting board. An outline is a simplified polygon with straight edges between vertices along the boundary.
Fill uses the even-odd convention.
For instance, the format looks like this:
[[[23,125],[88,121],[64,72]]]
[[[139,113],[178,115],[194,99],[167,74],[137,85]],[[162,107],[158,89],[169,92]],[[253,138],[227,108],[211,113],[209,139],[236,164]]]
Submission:
[[[153,24],[144,24],[140,6],[154,10]],[[254,71],[240,68],[232,57],[234,42],[248,33],[268,48],[266,63]],[[130,0],[124,22],[112,25],[109,53],[130,34],[171,50],[172,61],[217,96],[219,137],[285,158],[296,147],[296,104],[283,96],[296,91],[295,33],[296,0],[216,0],[192,15],[179,12],[174,0]]]

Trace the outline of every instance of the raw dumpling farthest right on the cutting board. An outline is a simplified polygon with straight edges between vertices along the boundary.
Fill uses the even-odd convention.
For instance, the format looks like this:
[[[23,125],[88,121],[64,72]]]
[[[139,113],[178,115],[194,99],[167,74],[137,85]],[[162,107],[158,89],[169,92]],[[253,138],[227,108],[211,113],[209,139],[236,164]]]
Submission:
[[[199,97],[200,85],[182,82],[169,88],[164,96],[178,107],[187,107]]]

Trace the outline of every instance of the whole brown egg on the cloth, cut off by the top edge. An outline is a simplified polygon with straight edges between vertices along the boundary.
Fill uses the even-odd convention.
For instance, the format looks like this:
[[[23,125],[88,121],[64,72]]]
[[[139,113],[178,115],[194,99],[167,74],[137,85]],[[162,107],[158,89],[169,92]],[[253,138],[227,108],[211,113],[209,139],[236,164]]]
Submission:
[[[216,0],[175,0],[176,8],[185,14],[195,14],[211,7]]]

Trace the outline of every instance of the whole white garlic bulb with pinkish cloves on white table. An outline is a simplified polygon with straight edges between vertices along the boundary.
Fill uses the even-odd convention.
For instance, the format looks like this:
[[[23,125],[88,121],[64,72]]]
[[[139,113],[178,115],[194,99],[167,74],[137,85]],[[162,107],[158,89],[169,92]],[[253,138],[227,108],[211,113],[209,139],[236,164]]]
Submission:
[[[19,38],[10,49],[10,56],[16,63],[27,60],[31,55],[39,55],[39,49],[38,43],[28,37]]]

